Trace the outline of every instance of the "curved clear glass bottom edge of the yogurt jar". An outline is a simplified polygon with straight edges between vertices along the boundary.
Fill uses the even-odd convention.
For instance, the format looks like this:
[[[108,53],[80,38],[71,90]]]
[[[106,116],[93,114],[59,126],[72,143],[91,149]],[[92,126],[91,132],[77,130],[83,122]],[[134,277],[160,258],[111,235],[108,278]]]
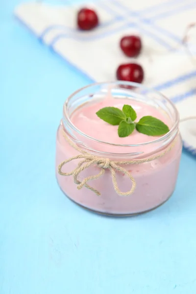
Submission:
[[[61,189],[61,187],[59,186],[59,188]],[[152,210],[154,210],[154,209],[156,209],[156,208],[158,208],[158,207],[160,207],[160,206],[162,206],[163,204],[165,204],[169,199],[170,199],[170,197],[172,196],[172,194],[173,194],[173,192],[172,192],[172,194],[164,201],[164,202],[162,202],[162,203],[160,203],[159,205],[157,205],[157,206],[154,206],[154,207],[152,207],[152,208],[150,208],[150,209],[147,209],[147,210],[144,210],[144,211],[141,211],[141,212],[136,212],[136,213],[124,213],[124,214],[116,214],[116,213],[106,213],[106,212],[101,212],[101,211],[97,211],[97,210],[94,210],[94,209],[91,209],[91,208],[88,208],[88,207],[86,207],[86,206],[84,206],[84,205],[82,205],[82,204],[80,204],[80,203],[78,203],[78,202],[76,202],[76,201],[74,201],[72,198],[70,198],[69,196],[67,196],[67,194],[61,189],[61,191],[63,192],[63,194],[69,199],[69,200],[71,200],[73,203],[75,203],[75,204],[77,204],[78,206],[80,206],[80,207],[82,207],[82,208],[84,208],[84,209],[86,209],[86,210],[88,210],[88,211],[90,211],[90,212],[93,212],[93,213],[96,213],[96,214],[99,214],[99,215],[102,215],[102,216],[106,216],[106,217],[134,217],[134,216],[138,216],[138,215],[141,215],[141,214],[145,214],[145,213],[147,213],[147,212],[150,212],[150,211],[152,211]]]

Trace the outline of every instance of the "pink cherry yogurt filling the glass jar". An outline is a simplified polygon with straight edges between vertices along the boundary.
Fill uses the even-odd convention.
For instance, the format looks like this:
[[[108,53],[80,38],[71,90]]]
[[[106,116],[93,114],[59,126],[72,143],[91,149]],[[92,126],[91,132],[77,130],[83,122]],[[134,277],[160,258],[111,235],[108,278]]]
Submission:
[[[164,152],[164,149],[172,144],[172,140],[174,139],[171,139],[168,144],[165,143],[165,146],[163,142],[144,144],[158,138],[141,134],[136,130],[128,137],[120,138],[117,132],[118,126],[105,123],[96,115],[96,112],[103,107],[114,106],[122,109],[124,104],[129,104],[135,109],[137,113],[136,121],[139,121],[143,116],[150,115],[162,120],[164,123],[168,124],[170,128],[172,127],[170,118],[160,108],[155,108],[144,102],[126,98],[104,98],[102,100],[83,104],[81,107],[77,108],[71,116],[71,122],[82,133],[96,140],[110,144],[101,144],[96,140],[89,140],[83,135],[77,135],[78,140],[82,141],[85,146],[96,150],[98,152],[97,156],[109,157],[115,161],[146,158],[158,154],[159,152]],[[124,147],[111,144],[139,146]],[[81,145],[79,147],[81,147]],[[172,195],[179,169],[181,148],[181,139],[177,134],[175,136],[174,146],[161,158],[142,164],[123,166],[136,180],[136,189],[134,193],[129,196],[119,196],[115,192],[109,170],[106,170],[104,175],[100,178],[88,183],[90,186],[97,189],[101,193],[101,196],[97,196],[85,187],[81,190],[77,190],[77,185],[74,184],[72,176],[62,176],[56,172],[56,177],[62,191],[74,202],[85,208],[109,215],[137,214],[159,206]],[[107,155],[100,156],[99,152],[101,151],[107,152]],[[140,154],[133,155],[138,152]],[[124,154],[124,156],[118,157],[117,153]],[[131,154],[127,155],[127,153]],[[71,147],[63,137],[63,126],[60,125],[56,142],[56,169],[58,169],[58,165],[62,161],[77,154],[79,154],[78,151]],[[79,160],[74,160],[66,164],[62,171],[70,172],[75,169],[78,161]],[[97,174],[99,171],[100,169],[98,166],[92,166],[81,172],[80,179]],[[131,189],[131,181],[123,173],[117,173],[117,182],[122,192]]]

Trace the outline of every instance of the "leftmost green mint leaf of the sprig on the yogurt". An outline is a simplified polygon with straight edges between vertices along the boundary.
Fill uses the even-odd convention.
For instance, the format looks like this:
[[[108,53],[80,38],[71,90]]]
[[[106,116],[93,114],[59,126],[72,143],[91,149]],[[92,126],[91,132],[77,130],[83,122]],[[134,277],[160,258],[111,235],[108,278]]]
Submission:
[[[116,107],[104,107],[98,110],[96,114],[104,122],[113,125],[118,125],[123,120],[125,120],[125,115],[123,114],[123,111]]]

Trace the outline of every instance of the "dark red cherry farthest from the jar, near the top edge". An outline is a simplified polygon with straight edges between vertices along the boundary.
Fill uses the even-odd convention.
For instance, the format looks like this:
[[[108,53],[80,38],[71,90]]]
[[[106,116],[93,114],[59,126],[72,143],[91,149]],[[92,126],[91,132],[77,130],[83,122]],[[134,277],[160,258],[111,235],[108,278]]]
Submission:
[[[82,8],[77,13],[77,26],[82,30],[90,30],[98,25],[97,13],[89,8]]]

